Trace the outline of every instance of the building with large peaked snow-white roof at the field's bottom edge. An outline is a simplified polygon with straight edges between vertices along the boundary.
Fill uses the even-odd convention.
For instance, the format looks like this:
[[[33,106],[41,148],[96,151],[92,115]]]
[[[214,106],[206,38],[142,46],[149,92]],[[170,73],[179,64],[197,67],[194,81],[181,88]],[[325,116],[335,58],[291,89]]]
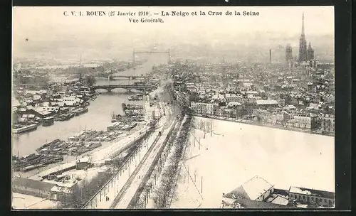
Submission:
[[[246,183],[226,194],[226,198],[244,198],[249,200],[263,201],[274,191],[274,185],[255,175]]]

